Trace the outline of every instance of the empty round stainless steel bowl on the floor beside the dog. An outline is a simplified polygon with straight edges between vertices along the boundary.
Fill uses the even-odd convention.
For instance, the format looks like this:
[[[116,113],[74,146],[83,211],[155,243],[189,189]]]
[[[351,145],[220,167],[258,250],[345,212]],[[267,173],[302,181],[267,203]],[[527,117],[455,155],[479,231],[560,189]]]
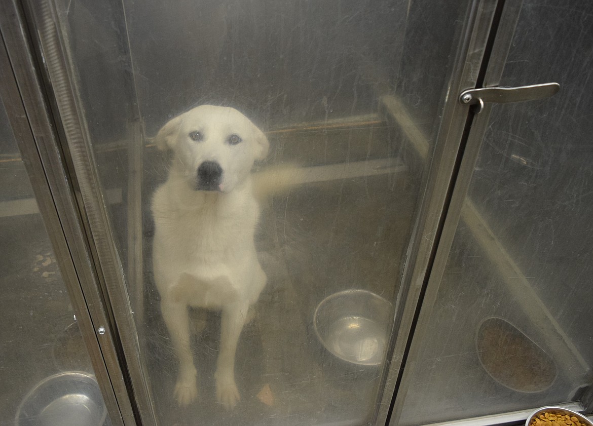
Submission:
[[[313,327],[324,348],[358,366],[381,364],[393,320],[391,303],[366,290],[327,296],[315,309]]]

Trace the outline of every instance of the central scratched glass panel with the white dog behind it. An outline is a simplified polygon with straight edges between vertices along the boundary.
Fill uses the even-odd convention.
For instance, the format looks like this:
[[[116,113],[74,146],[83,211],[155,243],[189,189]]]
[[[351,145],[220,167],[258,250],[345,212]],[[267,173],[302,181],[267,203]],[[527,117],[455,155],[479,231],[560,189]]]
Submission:
[[[470,2],[428,3],[56,1],[160,424],[372,421]]]

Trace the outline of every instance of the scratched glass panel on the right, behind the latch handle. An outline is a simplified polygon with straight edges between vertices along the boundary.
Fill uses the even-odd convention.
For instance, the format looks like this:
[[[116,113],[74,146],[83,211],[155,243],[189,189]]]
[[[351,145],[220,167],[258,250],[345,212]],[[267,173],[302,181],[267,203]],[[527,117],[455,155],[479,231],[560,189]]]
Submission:
[[[501,85],[561,89],[493,107],[401,424],[591,390],[592,12],[523,3]]]

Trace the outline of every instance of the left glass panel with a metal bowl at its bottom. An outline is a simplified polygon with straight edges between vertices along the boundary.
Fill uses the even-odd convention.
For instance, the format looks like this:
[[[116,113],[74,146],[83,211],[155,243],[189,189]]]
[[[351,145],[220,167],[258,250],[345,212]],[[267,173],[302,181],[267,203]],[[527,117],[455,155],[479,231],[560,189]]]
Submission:
[[[0,103],[0,424],[111,424]],[[56,423],[56,420],[59,420]]]

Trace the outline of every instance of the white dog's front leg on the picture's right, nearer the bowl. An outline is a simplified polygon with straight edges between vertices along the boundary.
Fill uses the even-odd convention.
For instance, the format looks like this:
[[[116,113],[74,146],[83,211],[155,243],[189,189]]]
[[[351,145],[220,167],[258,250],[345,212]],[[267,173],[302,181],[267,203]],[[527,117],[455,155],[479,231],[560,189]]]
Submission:
[[[248,310],[248,303],[226,306],[222,310],[221,350],[215,373],[216,398],[227,409],[233,408],[241,399],[235,383],[235,353]]]

